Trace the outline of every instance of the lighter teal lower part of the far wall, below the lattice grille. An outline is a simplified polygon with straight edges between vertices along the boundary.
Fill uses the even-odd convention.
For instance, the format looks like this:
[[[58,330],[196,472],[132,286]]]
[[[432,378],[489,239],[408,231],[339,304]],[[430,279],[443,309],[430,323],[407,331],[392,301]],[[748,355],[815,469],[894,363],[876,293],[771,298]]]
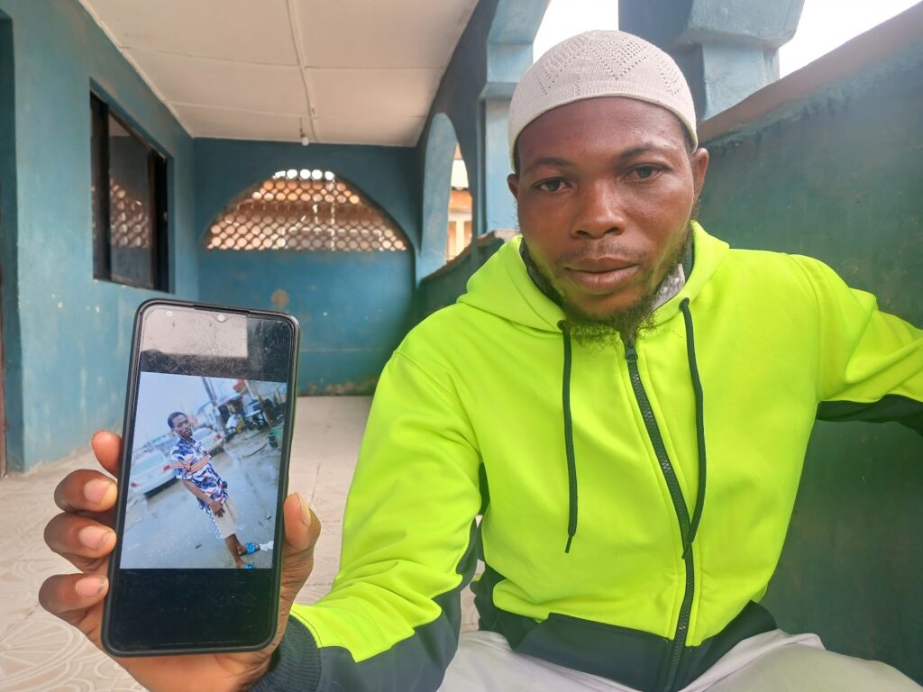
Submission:
[[[410,250],[204,250],[200,293],[297,318],[299,394],[369,394],[409,325],[413,259]]]

